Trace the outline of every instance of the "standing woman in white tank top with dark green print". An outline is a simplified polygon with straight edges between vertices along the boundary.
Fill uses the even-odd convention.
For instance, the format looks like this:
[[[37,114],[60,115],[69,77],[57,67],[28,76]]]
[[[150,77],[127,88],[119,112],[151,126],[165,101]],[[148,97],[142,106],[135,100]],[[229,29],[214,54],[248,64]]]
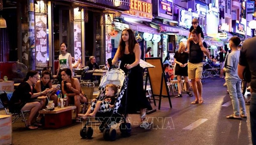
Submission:
[[[69,68],[72,72],[72,58],[71,54],[67,52],[68,45],[64,42],[60,44],[60,52],[61,54],[59,55],[59,66],[58,66],[58,71],[57,71],[57,77],[59,82],[61,82],[61,77],[60,77],[60,69],[64,68]]]

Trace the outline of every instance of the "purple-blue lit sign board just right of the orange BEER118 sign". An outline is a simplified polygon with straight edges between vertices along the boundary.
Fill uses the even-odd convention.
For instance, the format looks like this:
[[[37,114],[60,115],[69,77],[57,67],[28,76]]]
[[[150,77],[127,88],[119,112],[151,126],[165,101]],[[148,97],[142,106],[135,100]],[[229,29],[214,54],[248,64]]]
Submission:
[[[172,16],[172,0],[159,0],[158,12]]]

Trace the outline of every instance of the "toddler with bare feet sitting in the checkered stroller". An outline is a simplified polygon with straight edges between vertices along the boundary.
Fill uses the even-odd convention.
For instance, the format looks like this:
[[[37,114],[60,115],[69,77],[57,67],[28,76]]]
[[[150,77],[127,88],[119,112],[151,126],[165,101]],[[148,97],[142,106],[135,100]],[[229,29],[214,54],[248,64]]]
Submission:
[[[97,112],[105,113],[111,111],[115,104],[117,89],[115,84],[107,84],[104,99],[98,101],[93,99],[92,105],[89,107],[86,114],[78,114],[78,116],[86,119],[88,116],[95,117]]]

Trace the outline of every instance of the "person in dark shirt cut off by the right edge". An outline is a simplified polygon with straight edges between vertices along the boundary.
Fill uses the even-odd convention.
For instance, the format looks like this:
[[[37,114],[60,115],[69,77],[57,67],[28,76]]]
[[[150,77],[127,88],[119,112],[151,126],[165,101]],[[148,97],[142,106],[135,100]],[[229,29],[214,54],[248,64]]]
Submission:
[[[251,103],[250,103],[250,123],[252,132],[252,144],[256,145],[256,37],[244,41],[241,48],[238,75],[244,79],[245,67],[249,67],[251,72]]]

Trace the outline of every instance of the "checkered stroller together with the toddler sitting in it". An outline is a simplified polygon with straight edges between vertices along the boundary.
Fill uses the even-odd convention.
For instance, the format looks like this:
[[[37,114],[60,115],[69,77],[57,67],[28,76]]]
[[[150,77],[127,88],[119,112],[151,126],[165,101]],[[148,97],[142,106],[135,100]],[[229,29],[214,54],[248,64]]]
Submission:
[[[115,140],[116,130],[112,127],[117,125],[117,122],[121,123],[119,129],[122,135],[130,135],[131,124],[126,122],[126,105],[121,105],[124,92],[127,92],[127,76],[123,70],[116,68],[110,69],[102,76],[96,100],[92,100],[86,114],[78,114],[81,118],[86,119],[86,124],[80,130],[82,138],[92,137],[93,129],[91,126],[88,127],[92,123],[101,123],[99,129],[103,132],[105,140]],[[95,117],[95,120],[99,122],[90,122],[90,117]]]

